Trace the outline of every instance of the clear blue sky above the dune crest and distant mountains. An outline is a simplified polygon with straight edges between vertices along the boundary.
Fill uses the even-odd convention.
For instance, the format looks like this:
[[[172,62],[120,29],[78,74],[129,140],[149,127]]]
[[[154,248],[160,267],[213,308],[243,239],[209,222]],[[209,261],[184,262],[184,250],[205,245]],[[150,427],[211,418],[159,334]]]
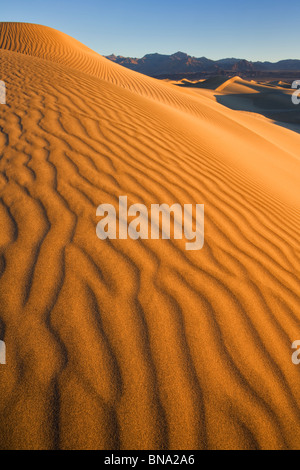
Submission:
[[[0,21],[51,26],[103,55],[300,58],[298,1],[6,0],[0,11]]]

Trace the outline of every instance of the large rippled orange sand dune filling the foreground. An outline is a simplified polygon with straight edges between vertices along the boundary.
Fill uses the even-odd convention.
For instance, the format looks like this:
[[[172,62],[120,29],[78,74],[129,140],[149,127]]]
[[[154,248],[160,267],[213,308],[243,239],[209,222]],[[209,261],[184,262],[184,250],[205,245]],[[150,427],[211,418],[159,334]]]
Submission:
[[[0,448],[299,449],[300,136],[43,26],[0,58]],[[204,248],[100,241],[119,195]]]

